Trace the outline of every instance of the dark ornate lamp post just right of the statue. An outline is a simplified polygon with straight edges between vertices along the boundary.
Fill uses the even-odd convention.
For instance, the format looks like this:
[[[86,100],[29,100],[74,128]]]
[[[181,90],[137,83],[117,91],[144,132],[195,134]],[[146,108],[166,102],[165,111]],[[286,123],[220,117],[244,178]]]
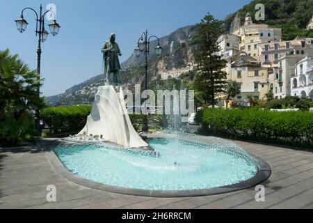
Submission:
[[[157,38],[158,40],[158,45],[157,47],[155,47],[155,53],[157,55],[161,55],[162,54],[162,47],[160,46],[160,39],[157,36],[148,36],[148,32],[147,30],[145,31],[145,33],[141,34],[141,38],[139,38],[138,40],[138,45],[135,49],[135,55],[136,56],[141,56],[141,52],[143,52],[145,54],[145,90],[147,90],[147,56],[150,54],[150,39],[151,38]],[[147,123],[147,116],[145,118],[145,123],[143,125],[143,132],[147,132],[148,131],[148,123]]]

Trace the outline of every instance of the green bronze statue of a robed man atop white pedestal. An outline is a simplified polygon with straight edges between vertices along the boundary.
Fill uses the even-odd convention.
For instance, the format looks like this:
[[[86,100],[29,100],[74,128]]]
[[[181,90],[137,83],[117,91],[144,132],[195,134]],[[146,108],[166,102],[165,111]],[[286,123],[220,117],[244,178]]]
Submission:
[[[115,34],[111,33],[110,38],[104,47],[102,47],[102,53],[104,58],[104,75],[106,75],[106,84],[118,83],[118,72],[120,71],[120,61],[118,56],[122,56],[120,53],[120,47],[115,42]]]

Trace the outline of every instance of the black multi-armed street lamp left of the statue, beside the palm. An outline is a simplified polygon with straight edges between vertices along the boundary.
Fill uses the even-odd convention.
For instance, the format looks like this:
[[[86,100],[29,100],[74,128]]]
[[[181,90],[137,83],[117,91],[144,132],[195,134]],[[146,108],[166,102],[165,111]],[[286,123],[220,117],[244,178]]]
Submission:
[[[53,13],[54,14],[54,21],[49,24],[49,29],[50,32],[52,34],[52,36],[56,36],[58,34],[59,29],[61,28],[61,26],[56,23],[56,14],[51,11],[51,10],[47,10],[45,13],[42,13],[42,5],[40,5],[40,13],[38,16],[38,13],[33,9],[33,8],[24,8],[22,10],[21,16],[19,17],[19,19],[15,20],[16,22],[16,26],[17,26],[17,30],[20,33],[23,33],[26,30],[27,25],[29,24],[25,19],[24,19],[24,10],[32,10],[35,15],[36,15],[36,36],[38,36],[38,49],[37,49],[37,72],[38,72],[38,82],[40,82],[40,61],[41,61],[41,43],[45,42],[45,40],[47,40],[49,33],[45,30],[45,15],[47,13]],[[40,86],[38,84],[38,98],[40,98]],[[38,130],[40,130],[39,128],[39,111],[36,110],[36,128]]]

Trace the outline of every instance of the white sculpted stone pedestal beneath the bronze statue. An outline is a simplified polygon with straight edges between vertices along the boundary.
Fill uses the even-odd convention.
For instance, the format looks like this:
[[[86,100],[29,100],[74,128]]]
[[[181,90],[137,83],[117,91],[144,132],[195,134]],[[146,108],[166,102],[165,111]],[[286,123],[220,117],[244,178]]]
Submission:
[[[99,87],[87,124],[79,134],[98,135],[126,148],[149,146],[131,124],[122,88],[118,95],[113,86]]]

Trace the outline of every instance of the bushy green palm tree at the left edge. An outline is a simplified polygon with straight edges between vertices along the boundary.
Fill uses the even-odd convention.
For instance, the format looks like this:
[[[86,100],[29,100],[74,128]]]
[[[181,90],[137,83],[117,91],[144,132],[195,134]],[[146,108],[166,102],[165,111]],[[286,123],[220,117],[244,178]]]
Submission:
[[[40,79],[36,70],[30,70],[18,55],[11,56],[8,49],[0,51],[0,141],[14,134],[20,137],[25,120],[31,121],[31,113],[45,105],[44,99],[38,97],[38,86]],[[16,123],[17,127],[24,123],[24,126],[12,132],[13,127],[8,128],[5,123]],[[11,141],[15,144],[15,139]]]

